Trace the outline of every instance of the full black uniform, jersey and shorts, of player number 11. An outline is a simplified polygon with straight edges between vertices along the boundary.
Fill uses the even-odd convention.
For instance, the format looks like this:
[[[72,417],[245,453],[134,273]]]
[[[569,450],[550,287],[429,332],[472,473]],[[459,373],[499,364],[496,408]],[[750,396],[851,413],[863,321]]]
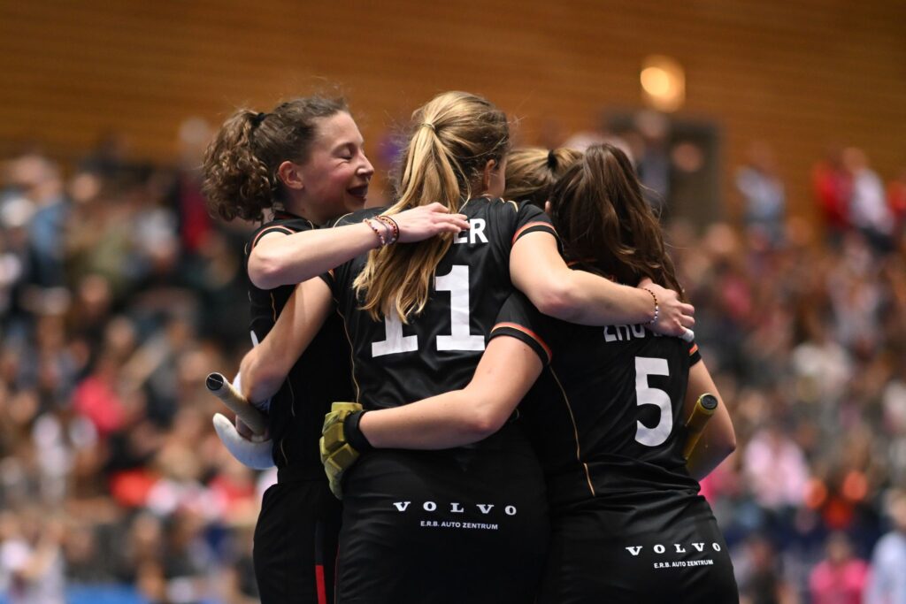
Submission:
[[[509,254],[528,233],[553,233],[537,208],[477,197],[418,317],[373,321],[352,282],[367,256],[324,275],[351,338],[355,400],[398,407],[464,388],[512,291]],[[378,210],[356,213],[352,224]],[[337,601],[531,602],[548,535],[541,467],[517,421],[472,446],[378,449],[343,482]]]

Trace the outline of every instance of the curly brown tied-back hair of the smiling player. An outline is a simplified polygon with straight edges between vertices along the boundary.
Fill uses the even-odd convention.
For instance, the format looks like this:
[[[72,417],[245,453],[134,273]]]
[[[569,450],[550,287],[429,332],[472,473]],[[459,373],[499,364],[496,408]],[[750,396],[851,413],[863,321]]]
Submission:
[[[264,220],[264,210],[284,200],[277,168],[304,163],[318,120],[349,112],[343,99],[319,96],[285,101],[268,113],[240,109],[207,147],[202,191],[208,212],[224,220]]]

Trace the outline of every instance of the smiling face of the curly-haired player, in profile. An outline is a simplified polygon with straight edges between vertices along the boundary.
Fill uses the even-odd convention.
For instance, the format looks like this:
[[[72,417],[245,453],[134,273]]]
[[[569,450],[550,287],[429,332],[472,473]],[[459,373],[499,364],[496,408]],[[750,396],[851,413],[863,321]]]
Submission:
[[[345,111],[318,120],[307,161],[295,164],[300,214],[317,223],[361,209],[374,168],[355,120]],[[288,208],[289,209],[289,208]]]

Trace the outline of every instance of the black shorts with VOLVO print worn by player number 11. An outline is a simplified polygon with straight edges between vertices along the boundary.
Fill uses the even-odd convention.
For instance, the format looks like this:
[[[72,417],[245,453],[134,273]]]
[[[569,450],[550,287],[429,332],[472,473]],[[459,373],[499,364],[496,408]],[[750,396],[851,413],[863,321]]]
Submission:
[[[549,532],[540,466],[505,427],[472,449],[375,451],[344,482],[339,604],[521,604]]]

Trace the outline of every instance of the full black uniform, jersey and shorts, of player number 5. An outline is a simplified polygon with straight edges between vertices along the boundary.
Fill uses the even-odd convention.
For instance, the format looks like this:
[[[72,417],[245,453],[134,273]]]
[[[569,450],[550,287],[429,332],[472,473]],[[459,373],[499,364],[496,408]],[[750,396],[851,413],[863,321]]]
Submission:
[[[738,601],[726,543],[682,456],[698,347],[642,325],[557,321],[519,293],[497,336],[525,341],[546,366],[520,407],[551,505],[538,601]]]

